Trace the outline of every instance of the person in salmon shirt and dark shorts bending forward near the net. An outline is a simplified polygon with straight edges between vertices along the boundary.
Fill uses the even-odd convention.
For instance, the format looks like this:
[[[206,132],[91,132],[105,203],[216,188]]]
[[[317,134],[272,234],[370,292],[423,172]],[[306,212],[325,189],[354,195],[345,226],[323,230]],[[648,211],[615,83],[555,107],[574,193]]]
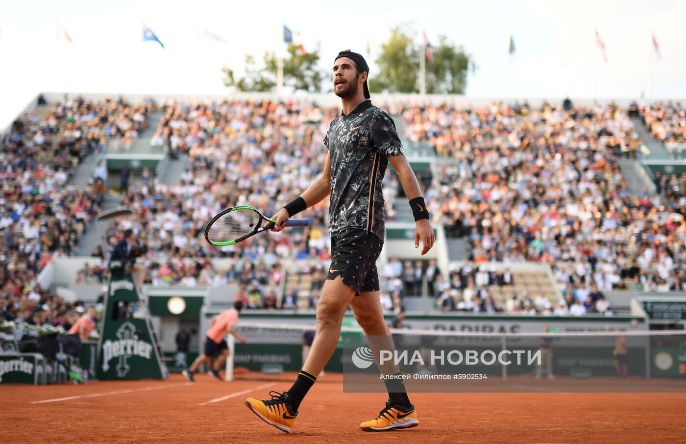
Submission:
[[[222,369],[222,365],[226,363],[226,358],[228,357],[228,344],[224,337],[228,333],[233,335],[241,343],[245,343],[246,339],[239,335],[236,330],[234,330],[236,324],[238,324],[238,315],[243,309],[243,302],[237,300],[233,303],[233,309],[222,311],[222,313],[216,315],[212,319],[212,325],[209,330],[207,330],[207,337],[205,338],[205,350],[204,353],[200,354],[193,361],[190,369],[185,369],[181,373],[189,381],[195,381],[193,374],[198,371],[202,363],[207,362],[210,365],[212,359],[214,359],[214,365],[208,372],[215,378],[221,380],[219,371]]]

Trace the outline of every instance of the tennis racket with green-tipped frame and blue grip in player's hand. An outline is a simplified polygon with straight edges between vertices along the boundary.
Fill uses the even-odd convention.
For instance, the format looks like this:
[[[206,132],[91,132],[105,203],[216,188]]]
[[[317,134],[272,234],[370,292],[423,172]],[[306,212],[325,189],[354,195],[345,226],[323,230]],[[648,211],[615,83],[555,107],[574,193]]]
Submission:
[[[266,222],[263,226],[262,224]],[[253,207],[241,205],[217,214],[205,228],[205,239],[216,246],[233,245],[252,235],[274,227],[276,220],[264,216]],[[285,226],[308,226],[309,220],[287,220]]]

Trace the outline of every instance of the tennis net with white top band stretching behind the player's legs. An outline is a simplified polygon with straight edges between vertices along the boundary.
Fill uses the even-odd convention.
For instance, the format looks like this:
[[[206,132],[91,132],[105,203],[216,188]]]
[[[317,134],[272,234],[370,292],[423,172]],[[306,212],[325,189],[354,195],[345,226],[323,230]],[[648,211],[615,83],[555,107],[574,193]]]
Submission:
[[[302,368],[316,324],[241,322],[237,332],[247,341],[231,345],[228,366],[277,374]],[[686,391],[686,330],[390,332],[343,326],[326,371],[351,392],[384,391],[398,373],[421,392]]]

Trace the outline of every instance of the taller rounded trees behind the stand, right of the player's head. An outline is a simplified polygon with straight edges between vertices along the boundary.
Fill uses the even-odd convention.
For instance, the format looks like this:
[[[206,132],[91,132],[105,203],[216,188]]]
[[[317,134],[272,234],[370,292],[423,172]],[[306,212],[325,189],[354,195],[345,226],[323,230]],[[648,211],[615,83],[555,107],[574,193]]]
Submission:
[[[381,45],[377,58],[379,73],[371,75],[372,92],[419,92],[421,45],[416,35],[397,27]],[[433,59],[426,60],[426,85],[429,94],[464,94],[469,70],[474,70],[473,57],[445,36],[433,47]]]

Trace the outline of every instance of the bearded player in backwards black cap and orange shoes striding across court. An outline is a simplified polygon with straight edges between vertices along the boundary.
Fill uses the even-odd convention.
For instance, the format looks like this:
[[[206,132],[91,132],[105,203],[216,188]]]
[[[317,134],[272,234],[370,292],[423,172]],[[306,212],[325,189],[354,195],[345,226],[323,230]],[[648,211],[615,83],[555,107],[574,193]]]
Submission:
[[[317,304],[317,334],[307,361],[293,386],[283,393],[272,391],[271,400],[248,398],[246,405],[263,421],[290,432],[300,402],[329,361],[340,334],[348,305],[366,335],[390,335],[379,300],[379,276],[375,265],[384,240],[381,181],[388,162],[395,168],[410,199],[416,226],[414,247],[422,254],[434,245],[419,183],[407,163],[393,120],[370,101],[364,57],[341,51],[333,64],[333,90],[341,98],[343,112],[331,122],[324,144],[329,149],[319,179],[272,218],[272,231],[296,213],[331,194],[329,231],[331,267]],[[417,426],[414,406],[402,379],[386,379],[389,400],[379,416],[363,422],[366,431],[394,430]]]

